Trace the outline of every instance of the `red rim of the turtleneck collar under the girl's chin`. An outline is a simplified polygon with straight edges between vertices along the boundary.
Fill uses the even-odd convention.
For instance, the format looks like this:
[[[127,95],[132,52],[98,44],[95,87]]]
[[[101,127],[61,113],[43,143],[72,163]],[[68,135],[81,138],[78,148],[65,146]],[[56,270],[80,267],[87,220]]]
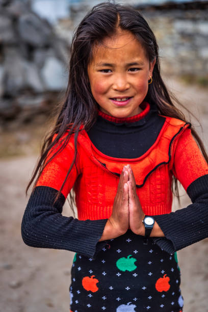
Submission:
[[[114,123],[132,123],[132,122],[137,122],[140,119],[144,118],[150,111],[150,105],[147,102],[143,102],[140,105],[141,109],[143,111],[135,116],[132,117],[126,117],[126,118],[118,118],[114,116],[110,116],[108,114],[105,114],[101,111],[98,111],[98,115],[102,117],[103,119],[106,119],[108,121],[114,122]]]

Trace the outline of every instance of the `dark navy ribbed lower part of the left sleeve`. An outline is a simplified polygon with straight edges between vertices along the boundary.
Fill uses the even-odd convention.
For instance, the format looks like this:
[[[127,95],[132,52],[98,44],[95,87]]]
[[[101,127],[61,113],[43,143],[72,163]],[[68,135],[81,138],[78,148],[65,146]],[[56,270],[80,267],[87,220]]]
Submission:
[[[102,235],[105,220],[80,221],[62,216],[64,196],[54,204],[57,191],[37,187],[31,195],[22,219],[21,233],[32,247],[65,249],[93,256]]]

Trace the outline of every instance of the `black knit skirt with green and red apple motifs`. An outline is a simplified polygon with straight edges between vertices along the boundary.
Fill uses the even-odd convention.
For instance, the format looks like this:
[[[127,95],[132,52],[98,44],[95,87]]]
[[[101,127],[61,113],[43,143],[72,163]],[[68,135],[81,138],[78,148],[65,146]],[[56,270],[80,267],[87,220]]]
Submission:
[[[128,230],[96,257],[75,254],[70,285],[73,312],[183,310],[177,255]]]

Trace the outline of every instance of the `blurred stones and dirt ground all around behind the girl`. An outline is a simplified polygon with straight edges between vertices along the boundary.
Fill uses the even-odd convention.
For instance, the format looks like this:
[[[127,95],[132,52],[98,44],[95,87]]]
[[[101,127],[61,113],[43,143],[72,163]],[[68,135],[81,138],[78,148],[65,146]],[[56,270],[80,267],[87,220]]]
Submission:
[[[86,12],[102,1],[0,0],[0,311],[69,311],[73,253],[21,240],[25,187],[67,85],[70,43]],[[207,149],[208,1],[120,1],[138,9],[158,39],[165,83]],[[199,122],[200,121],[200,122]],[[201,124],[201,125],[200,125]],[[181,205],[189,204],[181,188]],[[64,215],[71,212],[67,204]],[[178,252],[184,312],[207,311],[208,241]],[[154,311],[156,312],[156,311]]]

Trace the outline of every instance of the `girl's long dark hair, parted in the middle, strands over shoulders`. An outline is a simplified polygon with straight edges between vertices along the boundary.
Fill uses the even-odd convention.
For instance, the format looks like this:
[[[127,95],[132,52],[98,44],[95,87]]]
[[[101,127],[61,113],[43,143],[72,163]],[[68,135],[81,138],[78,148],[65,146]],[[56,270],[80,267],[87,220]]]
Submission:
[[[100,44],[104,38],[114,35],[118,28],[131,32],[139,40],[149,62],[154,59],[156,60],[152,73],[153,83],[149,85],[145,100],[150,105],[151,103],[155,103],[158,107],[159,114],[187,121],[184,114],[175,107],[174,101],[177,100],[168,92],[162,80],[157,40],[144,17],[132,7],[109,2],[101,3],[88,12],[74,33],[71,44],[69,79],[65,98],[60,106],[55,126],[44,140],[40,159],[27,187],[27,191],[36,178],[35,187],[44,167],[67,145],[71,135],[74,134],[75,153],[65,178],[66,181],[76,159],[77,136],[80,127],[84,125],[84,128],[88,130],[93,125],[97,116],[97,103],[92,96],[87,74],[88,64],[93,59],[93,48]],[[204,158],[208,162],[202,141],[194,129],[191,128],[191,130],[201,148]],[[53,141],[55,134],[57,136]],[[63,138],[64,134],[66,135]],[[57,146],[59,146],[58,150],[53,153]],[[50,155],[50,153],[51,157],[48,159],[48,154]],[[178,195],[175,178],[174,182],[174,189]],[[59,190],[58,196],[64,183]]]

